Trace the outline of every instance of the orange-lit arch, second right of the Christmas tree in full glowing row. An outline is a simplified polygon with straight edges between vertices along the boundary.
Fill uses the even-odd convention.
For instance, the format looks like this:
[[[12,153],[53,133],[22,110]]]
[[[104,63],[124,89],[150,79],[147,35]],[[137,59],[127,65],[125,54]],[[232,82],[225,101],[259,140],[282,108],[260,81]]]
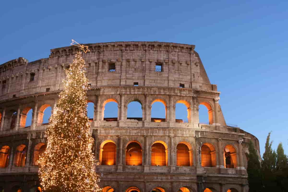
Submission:
[[[130,142],[126,147],[126,165],[142,165],[142,148],[139,142]]]

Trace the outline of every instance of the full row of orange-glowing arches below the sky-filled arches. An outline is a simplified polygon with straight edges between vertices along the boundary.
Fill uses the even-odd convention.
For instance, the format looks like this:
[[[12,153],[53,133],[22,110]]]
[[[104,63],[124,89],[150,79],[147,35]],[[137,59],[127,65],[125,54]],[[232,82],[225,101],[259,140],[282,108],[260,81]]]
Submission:
[[[38,143],[35,145],[32,156],[32,165],[38,166],[39,156],[45,151],[46,144]],[[176,147],[176,165],[193,166],[192,147],[186,142],[178,143]],[[151,166],[168,166],[168,146],[163,141],[156,141],[150,149]],[[26,163],[27,146],[22,144],[16,147],[13,159],[13,165],[24,167]],[[0,150],[0,168],[5,168],[9,164],[10,147],[5,145]],[[140,142],[133,140],[126,146],[125,164],[129,166],[143,165],[143,151]],[[210,143],[204,143],[201,147],[201,165],[202,167],[216,167],[215,147]],[[101,143],[99,161],[100,165],[116,165],[117,147],[112,140],[105,140]],[[226,145],[223,148],[223,160],[225,168],[236,168],[237,153],[232,145]]]

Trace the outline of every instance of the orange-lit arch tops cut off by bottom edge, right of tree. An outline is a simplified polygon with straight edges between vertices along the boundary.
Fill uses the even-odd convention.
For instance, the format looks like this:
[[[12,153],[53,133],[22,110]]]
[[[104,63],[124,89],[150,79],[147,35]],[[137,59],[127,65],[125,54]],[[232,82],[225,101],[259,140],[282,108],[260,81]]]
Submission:
[[[165,192],[165,188],[164,187],[155,187],[154,189],[152,189],[151,192]],[[212,188],[205,188],[203,192],[215,192],[215,189]],[[102,188],[102,192],[114,192],[113,187],[111,186],[106,186]],[[128,187],[125,192],[141,192],[141,190],[138,187],[135,186],[131,186]],[[194,190],[190,189],[189,187],[181,187],[177,192],[194,192]],[[226,192],[238,192],[237,189],[235,188],[230,188],[228,189]]]

